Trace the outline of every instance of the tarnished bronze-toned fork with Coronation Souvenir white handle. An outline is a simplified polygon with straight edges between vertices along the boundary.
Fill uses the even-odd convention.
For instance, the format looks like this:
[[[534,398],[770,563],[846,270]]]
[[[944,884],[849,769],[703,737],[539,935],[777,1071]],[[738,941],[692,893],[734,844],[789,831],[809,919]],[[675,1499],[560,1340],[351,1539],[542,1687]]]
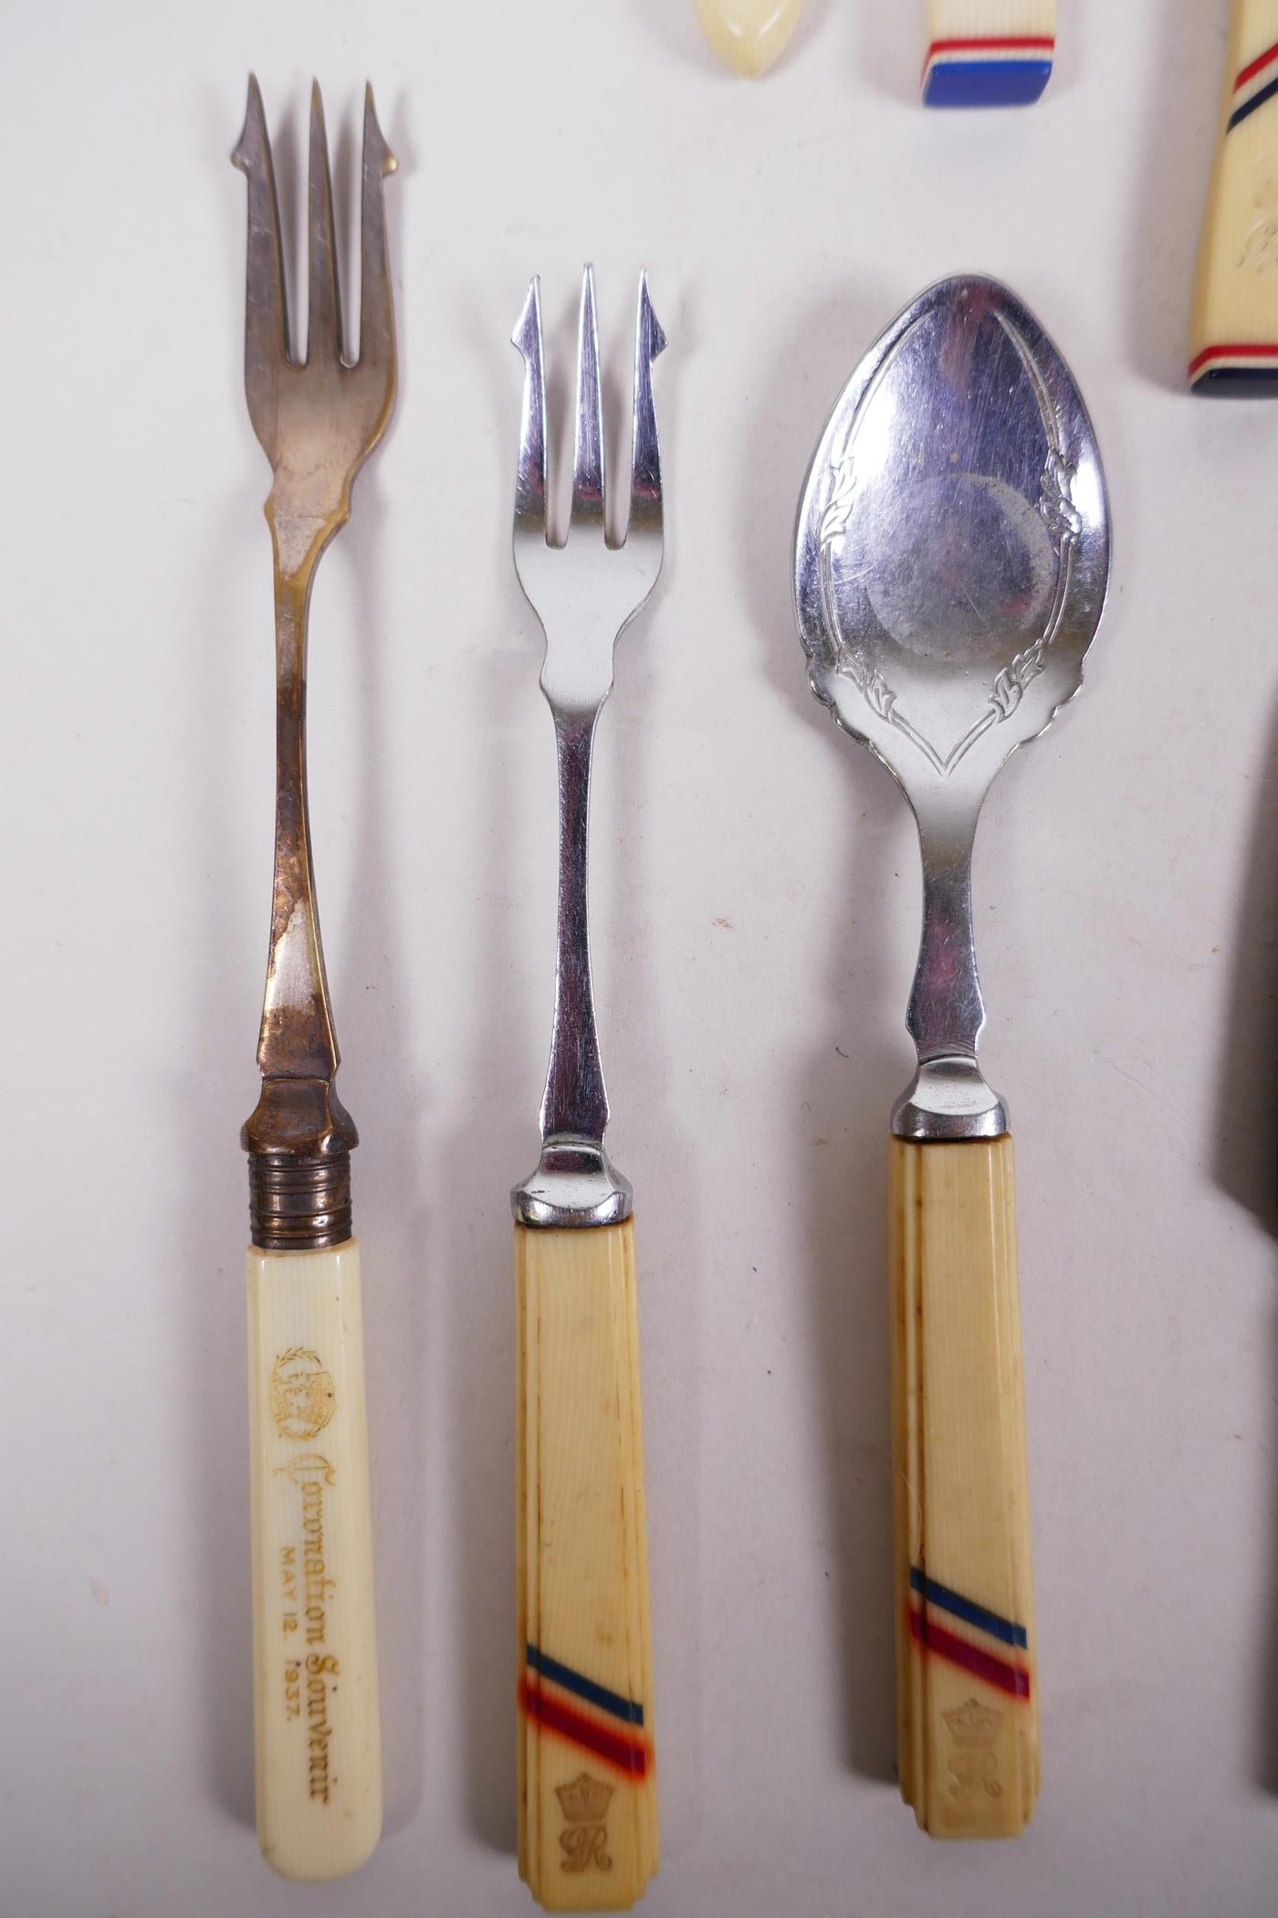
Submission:
[[[310,315],[289,351],[280,209],[257,81],[232,155],[249,180],[245,393],[274,468],[276,861],[257,1063],[243,1128],[253,1245],[253,1717],[257,1836],[285,1878],[341,1878],[381,1834],[381,1730],[360,1254],[351,1147],[333,1080],[307,817],[307,614],[320,554],[395,405],[395,322],[381,199],[395,157],[364,96],[360,353],[343,357],[333,194],[320,88],[310,94]]]

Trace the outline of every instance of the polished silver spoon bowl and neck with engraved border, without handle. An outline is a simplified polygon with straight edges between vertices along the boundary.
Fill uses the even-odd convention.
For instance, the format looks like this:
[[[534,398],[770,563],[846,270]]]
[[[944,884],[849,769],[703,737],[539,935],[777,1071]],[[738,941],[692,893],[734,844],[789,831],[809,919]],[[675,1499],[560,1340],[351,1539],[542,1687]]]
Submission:
[[[918,821],[902,1139],[1008,1130],[977,1064],[971,844],[998,767],[1077,692],[1107,579],[1106,481],[1069,368],[1004,286],[941,280],[843,389],[795,533],[812,692]]]

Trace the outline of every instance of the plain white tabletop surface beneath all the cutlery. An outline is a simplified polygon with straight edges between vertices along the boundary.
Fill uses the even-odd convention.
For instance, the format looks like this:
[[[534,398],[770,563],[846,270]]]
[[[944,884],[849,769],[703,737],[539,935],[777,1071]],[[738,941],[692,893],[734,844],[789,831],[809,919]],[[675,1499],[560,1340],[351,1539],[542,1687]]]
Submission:
[[[642,1206],[669,1918],[1272,1918],[1278,1882],[1278,407],[1184,393],[1226,10],[1073,0],[1027,113],[927,113],[912,8],[809,0],[763,86],[690,0],[10,8],[0,1851],[21,1918],[531,1912],[513,1859],[513,1312],[554,737],[510,562],[542,274],[609,420],[640,265],[667,564],[598,737],[609,1145]],[[312,769],[362,1145],[387,1820],[253,1837],[238,1130],[270,907],[268,468],[245,69],[343,207],[372,75],[402,389],[320,568]],[[598,165],[582,155],[598,140]],[[1017,1145],[1050,1765],[1006,1847],[891,1776],[887,1114],[914,827],[809,696],[805,466],[929,280],[1012,282],[1100,435],[1111,604],[975,857]],[[613,460],[615,466],[615,460]]]

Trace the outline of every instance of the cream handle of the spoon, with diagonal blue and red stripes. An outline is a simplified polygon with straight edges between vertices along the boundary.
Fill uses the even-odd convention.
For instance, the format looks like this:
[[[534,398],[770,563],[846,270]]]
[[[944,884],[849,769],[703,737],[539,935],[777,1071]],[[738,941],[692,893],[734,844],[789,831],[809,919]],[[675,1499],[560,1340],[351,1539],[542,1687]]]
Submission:
[[[1012,1139],[891,1141],[901,1795],[1014,1837],[1038,1795]]]

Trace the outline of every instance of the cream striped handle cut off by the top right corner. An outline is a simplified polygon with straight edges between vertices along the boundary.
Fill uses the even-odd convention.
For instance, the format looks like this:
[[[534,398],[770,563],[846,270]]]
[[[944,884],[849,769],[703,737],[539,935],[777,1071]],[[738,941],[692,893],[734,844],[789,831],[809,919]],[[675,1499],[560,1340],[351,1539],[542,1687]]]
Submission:
[[[1234,0],[1190,326],[1196,393],[1278,393],[1278,0]]]

